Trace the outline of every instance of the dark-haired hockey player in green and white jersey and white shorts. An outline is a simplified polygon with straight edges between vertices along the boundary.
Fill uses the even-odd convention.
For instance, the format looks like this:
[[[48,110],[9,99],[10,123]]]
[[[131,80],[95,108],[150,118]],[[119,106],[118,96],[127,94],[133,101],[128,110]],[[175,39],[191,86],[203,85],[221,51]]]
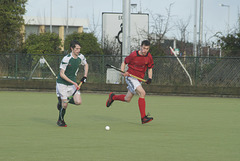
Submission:
[[[64,56],[60,64],[60,73],[58,74],[56,82],[56,94],[58,97],[57,108],[59,110],[59,118],[57,125],[61,127],[67,127],[64,121],[64,116],[68,103],[80,105],[82,98],[80,95],[80,87],[77,84],[76,77],[79,70],[79,66],[84,66],[84,76],[81,79],[82,83],[87,81],[88,63],[83,54],[80,53],[81,45],[78,41],[73,40],[70,43],[71,53]],[[75,90],[78,90],[72,99],[68,100]]]

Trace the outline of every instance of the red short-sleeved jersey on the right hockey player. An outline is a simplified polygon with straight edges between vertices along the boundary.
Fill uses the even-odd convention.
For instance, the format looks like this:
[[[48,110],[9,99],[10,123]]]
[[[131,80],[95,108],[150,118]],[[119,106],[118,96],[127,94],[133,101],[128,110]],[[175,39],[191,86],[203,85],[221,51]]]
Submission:
[[[144,78],[145,72],[148,68],[153,68],[153,58],[150,53],[143,56],[138,51],[132,52],[124,60],[125,64],[128,64],[127,72],[140,78]]]

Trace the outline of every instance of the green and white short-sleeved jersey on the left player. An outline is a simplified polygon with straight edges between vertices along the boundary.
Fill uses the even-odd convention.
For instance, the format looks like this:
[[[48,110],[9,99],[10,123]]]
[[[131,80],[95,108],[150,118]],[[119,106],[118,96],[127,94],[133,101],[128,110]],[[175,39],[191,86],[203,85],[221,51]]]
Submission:
[[[79,65],[87,64],[86,58],[81,53],[78,55],[76,59],[73,58],[72,53],[63,57],[60,70],[65,70],[65,75],[71,79],[72,81],[76,82],[77,72],[79,70]],[[65,84],[65,85],[72,85],[65,79],[60,77],[60,73],[58,74],[57,83]]]

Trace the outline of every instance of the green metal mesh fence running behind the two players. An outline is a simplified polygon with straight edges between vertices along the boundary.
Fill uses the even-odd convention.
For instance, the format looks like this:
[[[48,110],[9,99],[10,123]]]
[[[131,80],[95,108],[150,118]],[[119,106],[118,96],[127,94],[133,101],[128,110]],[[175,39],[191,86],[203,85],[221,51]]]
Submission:
[[[0,79],[55,79],[44,61],[58,74],[64,55],[0,54]],[[116,56],[86,56],[89,64],[88,82],[105,83],[105,64],[120,67],[122,58]],[[240,57],[179,57],[194,86],[240,87]],[[153,57],[153,84],[190,86],[186,72],[176,57]],[[82,77],[80,68],[78,77]]]

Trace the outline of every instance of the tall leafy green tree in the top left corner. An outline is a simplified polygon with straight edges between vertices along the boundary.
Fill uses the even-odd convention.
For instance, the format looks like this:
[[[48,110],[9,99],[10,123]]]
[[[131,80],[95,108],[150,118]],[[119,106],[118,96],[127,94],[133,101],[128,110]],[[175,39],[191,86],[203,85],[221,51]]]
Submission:
[[[26,13],[27,0],[0,1],[0,52],[19,52],[22,49],[24,24],[22,15]]]

